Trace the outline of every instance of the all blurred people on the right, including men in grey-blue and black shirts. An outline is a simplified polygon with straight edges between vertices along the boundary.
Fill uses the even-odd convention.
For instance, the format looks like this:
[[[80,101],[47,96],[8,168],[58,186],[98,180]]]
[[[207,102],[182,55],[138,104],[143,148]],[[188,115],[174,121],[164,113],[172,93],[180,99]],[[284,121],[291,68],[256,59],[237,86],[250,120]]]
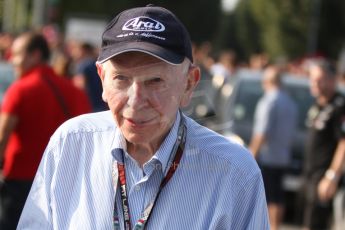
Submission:
[[[236,78],[236,73],[241,69],[260,72],[262,76],[264,95],[253,114],[249,148],[263,173],[273,230],[280,229],[283,220],[286,205],[282,195],[286,174],[283,162],[286,152],[291,152],[288,136],[291,139],[291,128],[295,126],[295,122],[289,121],[294,116],[287,99],[284,99],[287,95],[282,95],[279,75],[284,73],[309,80],[310,94],[315,102],[306,117],[303,117],[306,140],[302,150],[303,184],[299,192],[302,197],[300,201],[304,205],[298,207],[302,210],[295,209],[294,212],[302,214],[299,224],[305,227],[304,230],[343,229],[345,183],[341,178],[345,169],[345,106],[344,96],[337,91],[343,92],[344,88],[344,53],[339,53],[338,60],[322,55],[308,55],[297,60],[275,61],[265,53],[255,53],[248,61],[241,62],[232,50],[222,50],[214,55],[212,44],[206,42],[195,46],[194,57],[202,68],[204,78],[221,76],[228,80]],[[272,66],[276,69],[273,71],[275,73],[267,73],[272,72]]]

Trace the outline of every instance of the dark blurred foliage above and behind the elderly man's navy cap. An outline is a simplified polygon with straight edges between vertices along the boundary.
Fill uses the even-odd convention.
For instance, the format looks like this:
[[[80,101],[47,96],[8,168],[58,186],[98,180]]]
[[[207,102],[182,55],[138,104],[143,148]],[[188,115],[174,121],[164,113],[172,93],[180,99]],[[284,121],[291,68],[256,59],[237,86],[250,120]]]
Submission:
[[[219,0],[60,0],[60,23],[68,15],[86,15],[85,13],[110,19],[126,8],[147,4],[163,6],[174,12],[186,25],[193,41],[213,39],[220,16]]]

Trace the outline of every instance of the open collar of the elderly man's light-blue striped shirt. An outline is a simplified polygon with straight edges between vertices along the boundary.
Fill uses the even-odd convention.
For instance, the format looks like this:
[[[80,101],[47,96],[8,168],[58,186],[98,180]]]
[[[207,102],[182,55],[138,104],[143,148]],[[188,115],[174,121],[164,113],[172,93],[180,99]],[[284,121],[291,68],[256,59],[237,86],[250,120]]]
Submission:
[[[173,146],[177,139],[177,132],[178,132],[180,122],[181,122],[181,114],[178,111],[176,113],[175,122],[172,128],[170,129],[168,135],[164,139],[163,143],[161,144],[161,146],[159,147],[155,155],[146,164],[148,164],[152,160],[154,161],[158,160],[162,164],[163,170],[167,167],[170,154],[172,152]],[[121,130],[117,128],[115,131],[114,141],[111,147],[111,153],[116,161],[123,163],[121,149],[124,152],[126,152],[127,144],[126,144],[125,137],[121,133]],[[144,167],[145,167],[145,164],[144,164]]]

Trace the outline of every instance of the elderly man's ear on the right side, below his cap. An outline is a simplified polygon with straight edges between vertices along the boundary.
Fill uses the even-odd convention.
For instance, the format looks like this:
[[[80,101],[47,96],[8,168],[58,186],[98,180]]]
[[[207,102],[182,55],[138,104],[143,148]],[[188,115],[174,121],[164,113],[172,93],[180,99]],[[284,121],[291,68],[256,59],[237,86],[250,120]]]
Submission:
[[[182,96],[180,107],[186,107],[189,104],[193,95],[193,91],[195,87],[198,85],[199,81],[200,81],[200,68],[192,65],[188,70],[186,89]]]

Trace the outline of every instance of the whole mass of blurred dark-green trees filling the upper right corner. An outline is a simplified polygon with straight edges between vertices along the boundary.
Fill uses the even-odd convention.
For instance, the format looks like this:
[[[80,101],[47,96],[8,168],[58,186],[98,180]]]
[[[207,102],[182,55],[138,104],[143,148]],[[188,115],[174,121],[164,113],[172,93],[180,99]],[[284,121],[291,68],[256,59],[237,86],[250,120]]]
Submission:
[[[272,59],[316,53],[336,58],[344,45],[344,11],[345,1],[338,0],[242,0],[228,16],[234,22],[227,31],[235,39],[225,44],[245,58],[260,51]]]

